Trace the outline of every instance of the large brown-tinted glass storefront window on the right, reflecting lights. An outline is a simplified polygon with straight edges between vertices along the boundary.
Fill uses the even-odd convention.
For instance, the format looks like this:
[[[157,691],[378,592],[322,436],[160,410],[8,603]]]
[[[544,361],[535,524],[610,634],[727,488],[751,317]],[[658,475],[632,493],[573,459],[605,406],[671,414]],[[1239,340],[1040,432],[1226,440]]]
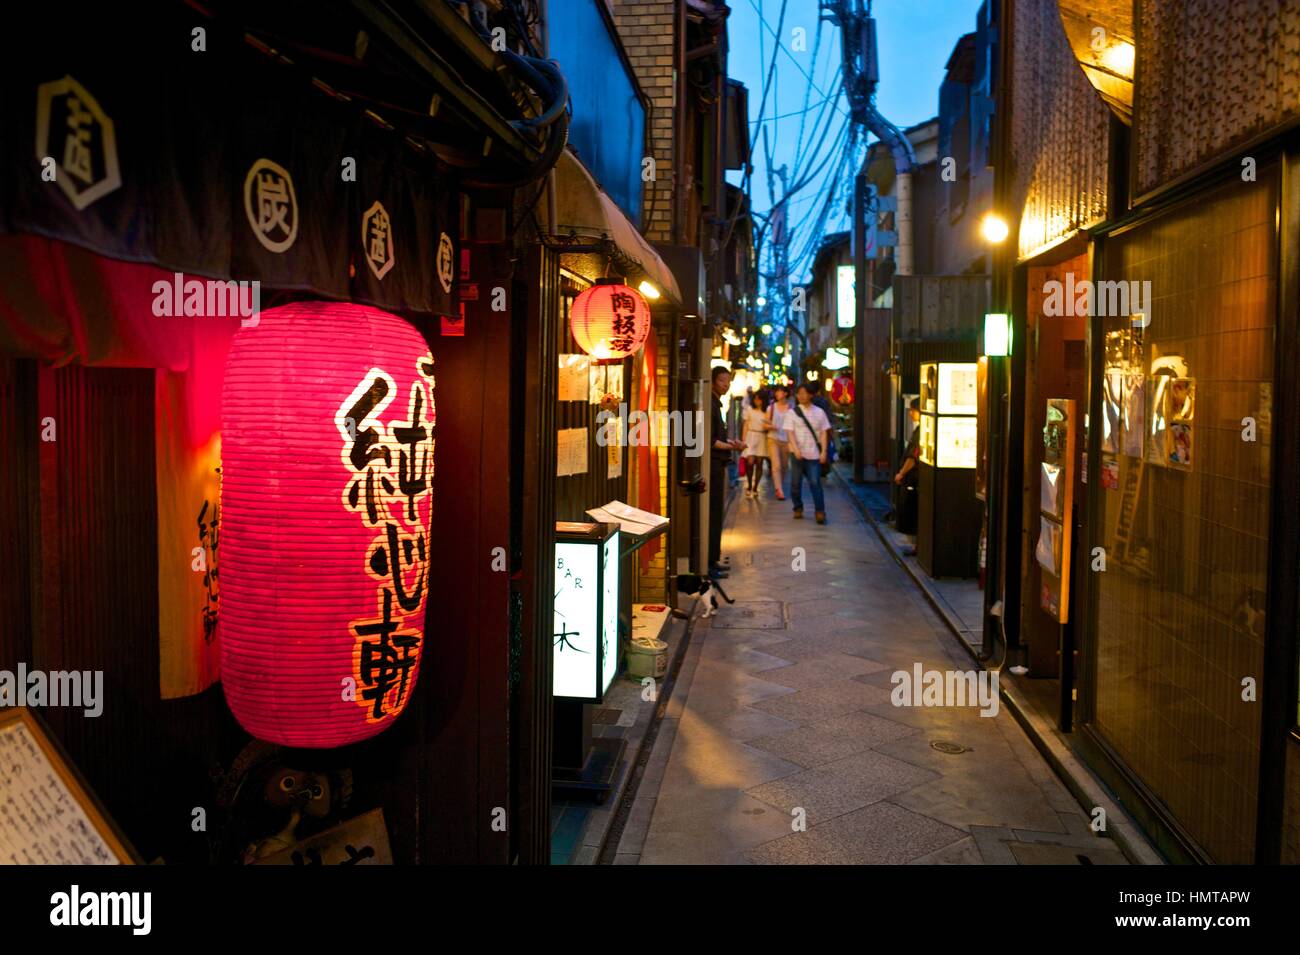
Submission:
[[[1208,192],[1108,240],[1101,277],[1143,305],[1102,320],[1095,728],[1218,863],[1253,858],[1275,203],[1262,174]]]

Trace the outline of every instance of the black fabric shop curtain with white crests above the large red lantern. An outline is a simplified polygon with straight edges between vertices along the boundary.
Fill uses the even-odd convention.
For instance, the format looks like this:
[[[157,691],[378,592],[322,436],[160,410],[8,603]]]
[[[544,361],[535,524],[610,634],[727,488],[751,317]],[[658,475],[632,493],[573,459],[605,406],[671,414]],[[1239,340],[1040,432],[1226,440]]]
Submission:
[[[112,19],[75,32],[29,36],[40,68],[5,73],[0,231],[268,291],[456,313],[458,192],[399,133],[243,44],[160,48]],[[185,82],[142,88],[120,69],[130,58]]]

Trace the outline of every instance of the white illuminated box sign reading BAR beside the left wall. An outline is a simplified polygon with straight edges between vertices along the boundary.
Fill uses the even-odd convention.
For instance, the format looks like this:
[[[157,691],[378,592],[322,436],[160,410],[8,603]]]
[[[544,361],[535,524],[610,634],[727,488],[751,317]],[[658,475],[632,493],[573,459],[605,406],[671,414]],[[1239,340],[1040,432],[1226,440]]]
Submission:
[[[555,524],[554,695],[599,703],[619,669],[619,525]]]

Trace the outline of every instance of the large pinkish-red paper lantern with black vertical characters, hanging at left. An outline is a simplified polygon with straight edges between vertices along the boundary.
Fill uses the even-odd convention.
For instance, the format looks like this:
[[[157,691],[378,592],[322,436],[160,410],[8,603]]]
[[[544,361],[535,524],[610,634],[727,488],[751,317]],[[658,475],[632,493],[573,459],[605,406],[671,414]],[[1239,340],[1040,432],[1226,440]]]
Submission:
[[[396,316],[300,303],[242,327],[221,413],[221,680],[283,746],[387,728],[420,670],[433,357]]]

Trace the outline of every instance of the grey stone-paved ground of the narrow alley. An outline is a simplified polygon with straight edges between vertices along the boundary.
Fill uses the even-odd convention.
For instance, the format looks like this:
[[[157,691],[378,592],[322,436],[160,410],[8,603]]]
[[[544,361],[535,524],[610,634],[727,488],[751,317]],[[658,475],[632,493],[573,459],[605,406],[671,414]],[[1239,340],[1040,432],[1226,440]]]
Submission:
[[[1005,707],[890,703],[894,670],[974,663],[845,487],[826,526],[764,494],[731,507],[736,604],[696,622],[615,860],[1124,864]]]

